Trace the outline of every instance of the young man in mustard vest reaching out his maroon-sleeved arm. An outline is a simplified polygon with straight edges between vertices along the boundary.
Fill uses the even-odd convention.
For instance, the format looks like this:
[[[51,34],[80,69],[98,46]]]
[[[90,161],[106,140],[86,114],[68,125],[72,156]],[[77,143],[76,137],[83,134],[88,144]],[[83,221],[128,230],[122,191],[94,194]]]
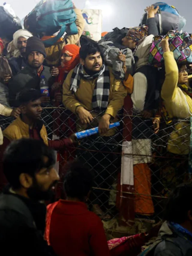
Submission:
[[[47,146],[55,150],[64,149],[75,143],[75,135],[62,140],[49,140],[46,127],[41,120],[41,93],[35,89],[24,89],[17,98],[21,114],[3,131],[3,145],[0,148],[0,159],[6,147],[13,140],[33,138],[43,141]],[[7,181],[1,171],[0,165],[0,190]]]

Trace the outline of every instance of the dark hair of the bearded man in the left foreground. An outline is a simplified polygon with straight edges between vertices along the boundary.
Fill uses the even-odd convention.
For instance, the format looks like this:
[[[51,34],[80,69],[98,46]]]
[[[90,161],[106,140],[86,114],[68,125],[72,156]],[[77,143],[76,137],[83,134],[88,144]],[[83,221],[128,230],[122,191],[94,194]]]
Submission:
[[[44,162],[44,157],[48,162]],[[55,164],[55,155],[52,149],[41,140],[15,140],[7,147],[3,157],[3,170],[7,181],[14,188],[20,188],[19,176],[28,173],[32,177],[42,168]]]

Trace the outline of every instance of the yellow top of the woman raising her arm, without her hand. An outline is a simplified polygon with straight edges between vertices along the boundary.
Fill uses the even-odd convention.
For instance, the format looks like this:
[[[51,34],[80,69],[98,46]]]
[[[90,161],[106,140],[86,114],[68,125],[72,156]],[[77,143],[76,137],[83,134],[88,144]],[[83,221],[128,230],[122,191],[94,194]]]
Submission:
[[[161,90],[161,98],[170,117],[185,119],[191,116],[192,99],[178,87],[179,69],[173,52],[164,53],[165,81]],[[174,154],[189,153],[190,142],[189,122],[179,122],[170,134],[167,150]]]

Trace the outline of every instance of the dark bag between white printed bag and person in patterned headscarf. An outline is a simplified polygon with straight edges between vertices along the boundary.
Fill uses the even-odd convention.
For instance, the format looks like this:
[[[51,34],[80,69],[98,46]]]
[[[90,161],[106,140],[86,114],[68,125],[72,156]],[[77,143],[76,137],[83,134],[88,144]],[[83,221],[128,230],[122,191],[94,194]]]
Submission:
[[[113,29],[113,32],[107,33],[100,41],[99,43],[106,42],[106,41],[112,41],[116,47],[119,49],[127,48],[122,45],[122,39],[127,35],[127,32],[129,29],[123,28],[115,28]]]

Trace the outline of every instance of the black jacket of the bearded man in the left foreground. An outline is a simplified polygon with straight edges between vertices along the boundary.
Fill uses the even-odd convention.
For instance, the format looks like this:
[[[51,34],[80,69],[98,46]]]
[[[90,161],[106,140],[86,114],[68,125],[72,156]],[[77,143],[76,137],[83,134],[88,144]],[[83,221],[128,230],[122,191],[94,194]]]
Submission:
[[[46,207],[16,194],[0,196],[1,254],[55,255],[44,240]]]

